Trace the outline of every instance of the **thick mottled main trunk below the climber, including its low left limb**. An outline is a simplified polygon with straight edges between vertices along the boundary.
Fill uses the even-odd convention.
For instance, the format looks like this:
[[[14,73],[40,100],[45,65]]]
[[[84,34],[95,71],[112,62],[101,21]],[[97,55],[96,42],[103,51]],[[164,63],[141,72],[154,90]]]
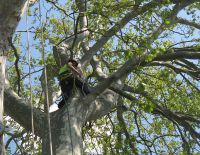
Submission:
[[[31,107],[29,104],[14,93],[8,83],[5,85],[4,98],[5,112],[27,131],[31,131]],[[82,154],[82,126],[86,121],[96,120],[106,115],[116,105],[116,95],[111,90],[106,90],[90,104],[83,102],[84,98],[87,97],[82,96],[80,92],[76,92],[76,96],[72,96],[67,101],[69,104],[68,109],[67,105],[64,105],[62,109],[51,113],[52,142],[53,150],[55,150],[53,155],[70,155],[72,149],[73,155]],[[23,117],[21,114],[23,114]],[[48,123],[45,113],[34,108],[33,116],[35,134],[43,140],[43,155],[50,155]],[[70,125],[71,128],[69,128]]]

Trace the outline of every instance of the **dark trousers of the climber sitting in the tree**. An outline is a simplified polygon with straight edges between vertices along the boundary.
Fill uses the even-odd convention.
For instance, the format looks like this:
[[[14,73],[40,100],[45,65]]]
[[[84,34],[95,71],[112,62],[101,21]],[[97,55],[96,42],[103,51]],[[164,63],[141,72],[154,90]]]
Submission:
[[[62,108],[67,101],[67,99],[72,95],[74,86],[81,90],[83,95],[87,95],[90,93],[90,90],[86,83],[83,83],[81,80],[74,78],[74,77],[68,77],[65,80],[60,81],[60,87],[63,93],[63,99],[58,104],[58,108]]]

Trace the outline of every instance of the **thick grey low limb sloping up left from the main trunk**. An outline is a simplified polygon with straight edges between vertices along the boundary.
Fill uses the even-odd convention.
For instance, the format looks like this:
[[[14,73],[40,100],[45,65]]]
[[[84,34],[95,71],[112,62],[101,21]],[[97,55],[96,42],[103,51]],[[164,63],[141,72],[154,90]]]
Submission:
[[[14,91],[12,91],[8,83],[6,83],[4,98],[6,114],[22,125],[27,131],[31,131],[30,105],[28,105],[27,102],[20,98]],[[42,137],[42,135],[46,132],[44,130],[44,125],[47,123],[45,115],[36,108],[33,109],[33,112],[35,134],[39,137]]]

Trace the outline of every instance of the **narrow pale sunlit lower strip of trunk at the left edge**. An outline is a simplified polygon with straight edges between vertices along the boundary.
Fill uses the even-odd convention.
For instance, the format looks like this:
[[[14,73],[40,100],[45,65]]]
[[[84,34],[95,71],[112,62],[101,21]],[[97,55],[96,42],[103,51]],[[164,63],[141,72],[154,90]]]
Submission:
[[[4,85],[5,85],[5,66],[6,58],[0,57],[0,155],[4,154],[4,145],[3,145],[3,103],[4,103]]]

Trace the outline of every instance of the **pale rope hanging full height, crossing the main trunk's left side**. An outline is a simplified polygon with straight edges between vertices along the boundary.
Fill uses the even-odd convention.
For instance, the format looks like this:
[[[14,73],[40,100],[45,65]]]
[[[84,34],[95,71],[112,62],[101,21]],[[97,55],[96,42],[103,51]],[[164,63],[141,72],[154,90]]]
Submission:
[[[44,62],[44,80],[45,80],[45,99],[47,104],[47,121],[48,121],[48,132],[49,132],[49,147],[50,147],[50,155],[53,155],[52,148],[52,136],[51,136],[51,121],[49,114],[49,95],[48,95],[48,83],[47,83],[47,68],[46,68],[46,58],[45,58],[45,49],[44,49],[44,34],[43,34],[43,24],[42,24],[42,13],[41,13],[41,0],[39,0],[39,19],[40,19],[40,27],[41,31],[41,43],[42,43],[42,59]]]

